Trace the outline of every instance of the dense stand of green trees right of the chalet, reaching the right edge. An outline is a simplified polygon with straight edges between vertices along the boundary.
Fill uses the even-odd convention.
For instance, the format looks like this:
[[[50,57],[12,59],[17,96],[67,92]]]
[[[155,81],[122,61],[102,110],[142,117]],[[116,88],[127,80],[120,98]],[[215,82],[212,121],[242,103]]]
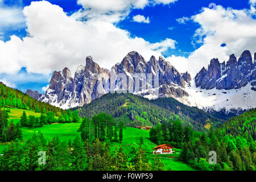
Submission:
[[[150,131],[152,142],[168,143],[182,148],[179,159],[200,170],[254,171],[256,169],[256,143],[248,131],[234,137],[223,129],[208,133],[183,127],[180,121],[162,123]],[[209,152],[216,151],[217,164],[210,165]]]

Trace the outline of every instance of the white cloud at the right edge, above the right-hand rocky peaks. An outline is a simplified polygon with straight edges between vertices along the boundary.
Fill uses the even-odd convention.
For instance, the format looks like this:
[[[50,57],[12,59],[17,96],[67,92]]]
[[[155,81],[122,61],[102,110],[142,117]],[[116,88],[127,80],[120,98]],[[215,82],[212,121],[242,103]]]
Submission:
[[[188,59],[176,61],[175,57],[170,58],[171,63],[180,68],[179,71],[186,71],[183,65],[188,65],[187,70],[195,76],[203,66],[207,67],[213,57],[218,57],[222,62],[228,61],[232,53],[239,57],[247,49],[252,54],[256,52],[256,20],[252,18],[250,10],[217,6],[216,10],[204,8],[191,18],[200,24],[195,39],[203,46],[192,52]],[[221,47],[222,43],[226,47]]]

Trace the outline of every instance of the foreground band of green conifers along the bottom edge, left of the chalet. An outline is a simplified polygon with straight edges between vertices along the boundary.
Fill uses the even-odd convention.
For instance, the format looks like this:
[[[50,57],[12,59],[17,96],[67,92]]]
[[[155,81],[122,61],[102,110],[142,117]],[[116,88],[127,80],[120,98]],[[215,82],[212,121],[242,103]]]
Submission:
[[[39,164],[39,152],[46,152],[46,164]],[[0,170],[3,171],[148,171],[163,170],[159,156],[149,162],[142,146],[133,144],[125,152],[122,147],[109,146],[100,139],[82,142],[77,137],[73,142],[60,142],[53,138],[49,142],[43,134],[34,134],[27,142],[16,139],[0,156]]]

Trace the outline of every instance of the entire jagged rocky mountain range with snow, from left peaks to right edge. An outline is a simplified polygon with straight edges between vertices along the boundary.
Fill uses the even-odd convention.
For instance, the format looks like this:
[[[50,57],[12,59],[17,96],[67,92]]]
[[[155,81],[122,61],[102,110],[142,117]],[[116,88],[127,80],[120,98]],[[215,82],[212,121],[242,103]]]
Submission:
[[[188,106],[203,109],[215,117],[229,119],[256,107],[256,53],[239,59],[210,60],[192,80],[188,72],[179,73],[163,57],[151,56],[146,62],[138,52],[129,52],[111,71],[101,68],[91,56],[72,77],[71,71],[53,72],[45,94],[28,90],[31,97],[68,109],[88,104],[106,93],[137,94],[148,99],[172,97]]]

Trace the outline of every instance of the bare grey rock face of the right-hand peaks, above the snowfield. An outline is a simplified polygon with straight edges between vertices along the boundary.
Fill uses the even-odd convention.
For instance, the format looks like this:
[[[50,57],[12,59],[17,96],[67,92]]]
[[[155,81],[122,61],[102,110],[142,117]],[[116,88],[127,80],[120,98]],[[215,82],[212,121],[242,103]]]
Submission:
[[[236,56],[230,55],[229,60],[221,63],[212,59],[208,69],[201,69],[195,77],[196,87],[201,89],[240,89],[249,82],[255,82],[254,64],[250,51],[244,51],[237,61]]]

